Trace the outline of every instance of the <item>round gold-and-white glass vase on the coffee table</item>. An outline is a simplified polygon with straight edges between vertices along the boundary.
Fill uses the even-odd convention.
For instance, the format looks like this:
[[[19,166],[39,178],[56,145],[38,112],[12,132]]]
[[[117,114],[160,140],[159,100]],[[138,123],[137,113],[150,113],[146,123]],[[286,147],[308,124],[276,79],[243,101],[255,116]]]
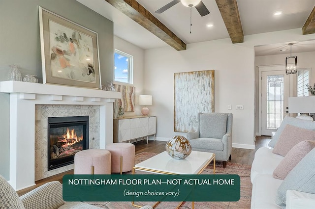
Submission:
[[[184,159],[191,153],[191,144],[184,136],[174,136],[165,145],[165,150],[174,159]]]

